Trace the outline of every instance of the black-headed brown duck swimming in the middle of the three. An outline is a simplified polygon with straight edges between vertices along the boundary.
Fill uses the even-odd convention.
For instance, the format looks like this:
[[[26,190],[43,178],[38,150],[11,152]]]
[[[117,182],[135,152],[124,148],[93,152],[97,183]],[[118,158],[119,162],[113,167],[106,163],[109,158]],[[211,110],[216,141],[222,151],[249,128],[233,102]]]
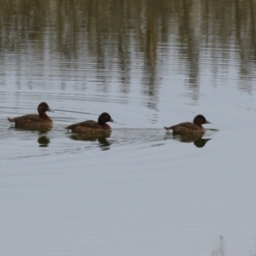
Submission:
[[[113,119],[109,113],[104,112],[100,114],[97,122],[94,120],[87,120],[81,123],[68,125],[65,129],[81,134],[102,134],[111,131],[110,125],[106,124],[108,122],[113,122]]]

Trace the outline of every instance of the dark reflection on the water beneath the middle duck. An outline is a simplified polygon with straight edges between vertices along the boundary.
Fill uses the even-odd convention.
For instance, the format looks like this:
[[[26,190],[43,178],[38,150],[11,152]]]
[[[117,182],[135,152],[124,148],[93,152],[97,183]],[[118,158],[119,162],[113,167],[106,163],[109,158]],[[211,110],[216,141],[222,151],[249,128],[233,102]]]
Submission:
[[[86,135],[86,134],[72,134],[70,135],[70,138],[75,141],[85,141],[85,142],[98,142],[98,146],[102,150],[108,150],[110,149],[110,143],[108,141],[108,137],[110,137],[110,133],[108,134],[102,134],[102,135]]]

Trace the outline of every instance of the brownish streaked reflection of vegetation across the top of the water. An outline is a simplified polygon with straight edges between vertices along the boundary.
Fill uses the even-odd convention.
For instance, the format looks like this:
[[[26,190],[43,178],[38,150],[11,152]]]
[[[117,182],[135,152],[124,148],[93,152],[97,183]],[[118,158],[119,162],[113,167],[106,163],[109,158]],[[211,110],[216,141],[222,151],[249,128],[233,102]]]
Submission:
[[[58,54],[60,70],[65,66],[75,70],[78,62],[70,59],[86,66],[90,56],[96,62],[102,90],[108,89],[111,68],[117,63],[120,91],[125,94],[130,90],[131,65],[135,64],[131,55],[136,55],[137,65],[143,70],[142,91],[149,98],[147,105],[156,109],[161,70],[169,61],[169,48],[163,45],[177,49],[180,65],[187,66],[183,69],[189,75],[188,86],[196,100],[204,55],[214,64],[212,75],[218,70],[223,75],[233,44],[241,77],[249,81],[241,86],[252,90],[255,1],[0,0],[0,6],[0,61],[3,51],[17,55],[35,51],[44,58],[47,50]],[[84,77],[86,70],[91,71],[86,67],[83,70]]]

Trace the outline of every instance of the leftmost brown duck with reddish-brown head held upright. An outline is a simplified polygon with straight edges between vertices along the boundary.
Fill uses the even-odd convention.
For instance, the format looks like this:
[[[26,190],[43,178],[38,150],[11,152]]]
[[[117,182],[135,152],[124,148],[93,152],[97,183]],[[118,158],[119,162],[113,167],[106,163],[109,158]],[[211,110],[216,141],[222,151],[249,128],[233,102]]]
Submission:
[[[9,119],[9,121],[16,126],[23,127],[51,127],[53,125],[52,119],[45,112],[54,112],[51,110],[46,102],[41,102],[38,105],[38,114],[31,113],[22,115],[13,119]]]

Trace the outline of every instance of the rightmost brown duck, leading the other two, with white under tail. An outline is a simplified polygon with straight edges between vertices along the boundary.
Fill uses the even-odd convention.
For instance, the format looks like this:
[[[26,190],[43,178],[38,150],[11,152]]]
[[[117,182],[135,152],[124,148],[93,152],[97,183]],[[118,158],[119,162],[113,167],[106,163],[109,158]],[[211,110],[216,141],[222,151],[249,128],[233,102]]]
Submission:
[[[205,129],[202,126],[204,124],[212,123],[207,121],[207,119],[202,114],[198,114],[197,116],[195,116],[193,123],[184,122],[177,125],[172,125],[170,127],[164,127],[166,131],[172,132],[174,135],[198,135],[205,133]]]

